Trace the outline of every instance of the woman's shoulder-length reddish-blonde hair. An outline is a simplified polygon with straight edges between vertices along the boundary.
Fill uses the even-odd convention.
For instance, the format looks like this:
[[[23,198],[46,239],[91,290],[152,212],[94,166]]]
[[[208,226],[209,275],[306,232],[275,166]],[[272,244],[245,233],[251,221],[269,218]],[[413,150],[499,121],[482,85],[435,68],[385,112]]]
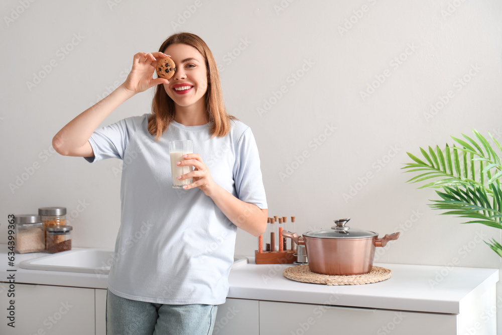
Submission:
[[[197,35],[191,33],[178,33],[171,35],[162,43],[159,48],[164,52],[171,44],[186,44],[194,47],[204,57],[207,69],[207,91],[205,94],[206,117],[212,123],[210,128],[211,137],[225,136],[230,131],[230,120],[235,120],[226,112],[221,92],[221,83],[218,74],[218,67],[213,54],[207,44]],[[148,118],[148,131],[155,135],[158,141],[174,121],[175,109],[174,101],[167,95],[163,84],[157,85],[152,101],[152,115]]]

